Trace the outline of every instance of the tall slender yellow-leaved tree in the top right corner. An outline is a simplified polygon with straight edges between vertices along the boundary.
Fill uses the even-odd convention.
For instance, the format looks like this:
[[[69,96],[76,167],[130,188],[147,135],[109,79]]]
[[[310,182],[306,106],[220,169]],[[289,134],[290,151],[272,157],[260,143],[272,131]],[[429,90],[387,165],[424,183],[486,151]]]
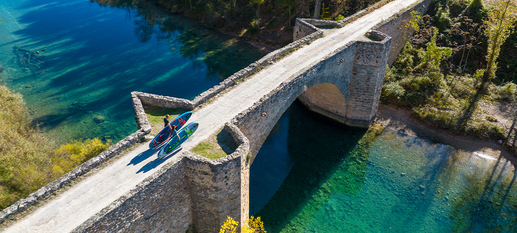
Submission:
[[[488,37],[486,69],[483,74],[483,80],[486,81],[495,76],[501,45],[512,33],[517,20],[517,3],[516,0],[488,0],[485,3],[490,6],[488,19],[483,21],[484,33]]]

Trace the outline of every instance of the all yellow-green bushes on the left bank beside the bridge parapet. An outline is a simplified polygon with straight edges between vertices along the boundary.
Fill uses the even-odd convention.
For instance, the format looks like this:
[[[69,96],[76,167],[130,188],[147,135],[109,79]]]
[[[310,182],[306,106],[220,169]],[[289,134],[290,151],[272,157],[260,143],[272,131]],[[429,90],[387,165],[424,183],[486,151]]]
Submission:
[[[28,119],[19,94],[0,85],[0,209],[12,205],[109,147],[98,138],[55,150]]]

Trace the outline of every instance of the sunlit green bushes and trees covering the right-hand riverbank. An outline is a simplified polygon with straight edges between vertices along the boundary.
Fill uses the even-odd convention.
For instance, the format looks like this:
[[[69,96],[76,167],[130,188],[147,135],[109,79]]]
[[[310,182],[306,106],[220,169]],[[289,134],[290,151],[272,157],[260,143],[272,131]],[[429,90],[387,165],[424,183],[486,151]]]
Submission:
[[[497,0],[491,4],[479,0],[438,1],[431,4],[431,16],[423,17],[422,25],[408,23],[406,27],[413,27],[416,32],[386,70],[382,102],[410,107],[418,118],[453,132],[510,138],[493,115],[485,115],[483,106],[517,108],[517,76],[494,76],[499,53],[495,47],[515,47],[513,40],[505,43],[502,36],[515,37],[516,33],[510,34],[515,17],[508,13],[501,20],[499,11],[501,4],[514,6],[515,2]],[[506,24],[506,29],[496,32],[500,25],[495,25],[495,21]],[[511,55],[502,56],[508,68],[517,64],[517,57]]]

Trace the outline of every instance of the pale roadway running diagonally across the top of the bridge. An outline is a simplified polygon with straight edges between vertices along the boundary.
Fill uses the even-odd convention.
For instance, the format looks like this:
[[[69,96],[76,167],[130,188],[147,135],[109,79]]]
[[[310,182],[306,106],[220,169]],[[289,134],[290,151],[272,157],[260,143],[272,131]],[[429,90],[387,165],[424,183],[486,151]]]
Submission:
[[[183,144],[183,150],[192,148],[214,134],[224,123],[251,107],[253,103],[290,79],[296,72],[306,69],[311,63],[349,41],[358,40],[374,25],[415,2],[416,0],[395,0],[386,4],[269,65],[233,90],[206,104],[193,114],[190,121],[199,122],[200,128],[194,137]],[[156,153],[157,151],[149,150],[147,144],[141,145],[104,168],[88,174],[65,192],[59,193],[32,213],[5,228],[4,232],[54,233],[73,230],[121,195],[132,190],[145,178],[159,170],[165,162],[175,161],[180,156],[178,153],[164,160],[158,159]],[[145,159],[136,162],[135,158]]]

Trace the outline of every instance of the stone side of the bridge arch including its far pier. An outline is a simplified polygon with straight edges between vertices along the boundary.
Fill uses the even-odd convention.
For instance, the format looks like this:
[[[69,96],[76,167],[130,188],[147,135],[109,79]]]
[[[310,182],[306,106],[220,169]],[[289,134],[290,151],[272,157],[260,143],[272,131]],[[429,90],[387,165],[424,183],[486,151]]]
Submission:
[[[306,98],[311,92],[321,90],[320,94],[339,99],[341,104],[318,105],[320,113],[348,126],[370,125],[375,118],[390,45],[389,37],[375,35],[382,39],[347,43],[321,61],[310,64],[231,121],[250,142],[251,163],[273,126],[300,95]],[[308,99],[306,103],[318,100]]]

